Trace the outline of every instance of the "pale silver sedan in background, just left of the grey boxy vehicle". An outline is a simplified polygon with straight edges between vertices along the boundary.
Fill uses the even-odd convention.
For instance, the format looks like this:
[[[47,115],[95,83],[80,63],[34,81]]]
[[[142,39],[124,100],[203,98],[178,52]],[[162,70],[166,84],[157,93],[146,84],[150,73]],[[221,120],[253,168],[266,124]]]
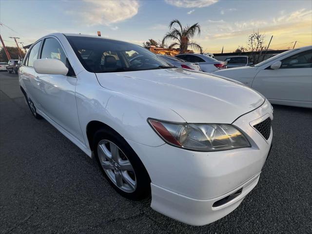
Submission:
[[[226,68],[225,61],[218,61],[212,57],[201,54],[176,55],[177,58],[197,63],[203,72],[214,72]]]

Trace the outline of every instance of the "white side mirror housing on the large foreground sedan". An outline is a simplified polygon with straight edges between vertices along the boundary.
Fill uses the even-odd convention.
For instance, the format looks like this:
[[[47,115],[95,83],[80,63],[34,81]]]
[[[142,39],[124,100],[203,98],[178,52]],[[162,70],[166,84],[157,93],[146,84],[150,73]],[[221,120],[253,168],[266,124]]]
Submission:
[[[68,68],[59,59],[37,59],[34,61],[34,68],[39,74],[66,76],[68,73]]]

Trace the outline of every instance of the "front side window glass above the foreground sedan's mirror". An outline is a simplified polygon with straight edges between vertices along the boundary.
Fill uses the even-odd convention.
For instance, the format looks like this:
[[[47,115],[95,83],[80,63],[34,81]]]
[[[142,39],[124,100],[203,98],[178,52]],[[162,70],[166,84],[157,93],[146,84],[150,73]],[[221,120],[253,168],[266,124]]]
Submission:
[[[55,38],[44,40],[41,59],[59,59],[66,65],[66,55],[59,41]]]

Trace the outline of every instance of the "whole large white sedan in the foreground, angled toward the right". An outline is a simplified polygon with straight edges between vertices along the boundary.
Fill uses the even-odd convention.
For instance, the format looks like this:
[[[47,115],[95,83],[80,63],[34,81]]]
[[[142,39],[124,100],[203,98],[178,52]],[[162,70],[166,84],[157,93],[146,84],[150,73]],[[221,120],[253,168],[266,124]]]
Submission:
[[[130,62],[137,55],[144,59]],[[29,49],[19,80],[32,114],[95,155],[119,194],[152,195],[153,209],[184,223],[232,212],[271,149],[272,106],[263,96],[171,68],[136,44],[50,34]]]

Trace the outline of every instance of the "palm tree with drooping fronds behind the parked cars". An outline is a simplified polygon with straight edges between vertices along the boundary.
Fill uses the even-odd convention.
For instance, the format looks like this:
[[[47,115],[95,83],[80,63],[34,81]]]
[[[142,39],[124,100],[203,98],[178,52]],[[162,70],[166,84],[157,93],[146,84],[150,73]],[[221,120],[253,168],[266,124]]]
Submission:
[[[172,26],[174,24],[178,24],[180,28],[173,28]],[[202,47],[194,41],[191,41],[196,33],[197,35],[200,35],[200,25],[198,23],[195,23],[192,26],[187,25],[182,27],[182,24],[179,20],[172,20],[169,24],[169,30],[170,31],[167,32],[162,39],[162,43],[165,43],[165,41],[168,39],[176,41],[172,43],[169,48],[178,45],[180,47],[180,54],[183,54],[185,51],[187,51],[188,46],[190,46],[191,48],[199,50],[200,53],[202,53]]]

